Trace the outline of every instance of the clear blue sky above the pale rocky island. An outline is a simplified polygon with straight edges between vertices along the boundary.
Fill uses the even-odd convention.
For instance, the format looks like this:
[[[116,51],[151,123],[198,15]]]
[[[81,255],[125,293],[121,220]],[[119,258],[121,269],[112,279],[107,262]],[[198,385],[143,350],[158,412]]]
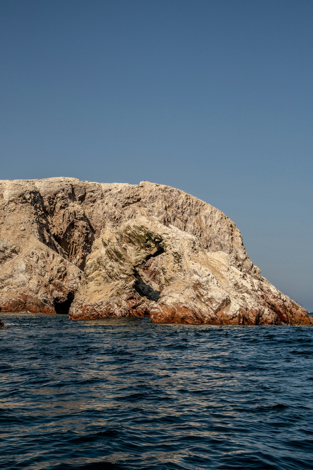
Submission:
[[[313,311],[313,1],[0,1],[0,179],[183,189]]]

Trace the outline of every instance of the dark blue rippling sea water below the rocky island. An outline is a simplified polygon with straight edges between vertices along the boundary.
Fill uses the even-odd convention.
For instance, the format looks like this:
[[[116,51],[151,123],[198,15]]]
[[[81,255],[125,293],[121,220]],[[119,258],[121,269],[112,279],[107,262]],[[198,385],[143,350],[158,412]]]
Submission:
[[[313,328],[0,316],[3,469],[313,468]]]

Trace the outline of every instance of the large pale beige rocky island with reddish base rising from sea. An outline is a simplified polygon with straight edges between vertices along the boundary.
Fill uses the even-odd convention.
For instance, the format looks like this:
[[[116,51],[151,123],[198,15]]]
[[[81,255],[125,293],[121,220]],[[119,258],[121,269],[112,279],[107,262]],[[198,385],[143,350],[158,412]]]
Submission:
[[[0,181],[0,267],[2,312],[312,322],[260,275],[221,211],[146,181]]]

